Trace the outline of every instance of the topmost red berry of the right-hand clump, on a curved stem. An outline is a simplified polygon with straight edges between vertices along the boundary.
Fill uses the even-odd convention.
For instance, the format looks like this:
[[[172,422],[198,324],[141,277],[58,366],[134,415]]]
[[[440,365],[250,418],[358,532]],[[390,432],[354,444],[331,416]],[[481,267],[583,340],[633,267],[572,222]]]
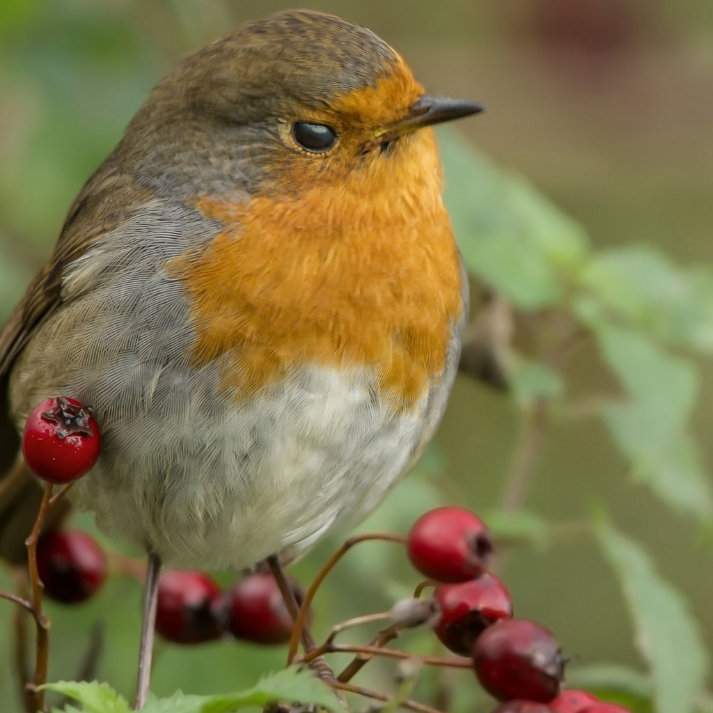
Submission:
[[[416,520],[406,538],[411,564],[438,582],[465,582],[483,573],[493,540],[478,515],[436,508]]]

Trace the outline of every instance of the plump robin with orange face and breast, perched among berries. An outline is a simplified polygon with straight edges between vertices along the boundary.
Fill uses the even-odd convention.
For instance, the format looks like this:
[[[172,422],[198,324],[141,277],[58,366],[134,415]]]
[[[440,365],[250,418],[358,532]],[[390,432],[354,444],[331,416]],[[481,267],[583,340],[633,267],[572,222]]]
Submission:
[[[149,553],[149,619],[159,563],[294,558],[433,436],[468,283],[430,127],[478,111],[368,29],[280,12],[186,58],[79,193],[0,374],[16,429],[93,406],[71,500]]]

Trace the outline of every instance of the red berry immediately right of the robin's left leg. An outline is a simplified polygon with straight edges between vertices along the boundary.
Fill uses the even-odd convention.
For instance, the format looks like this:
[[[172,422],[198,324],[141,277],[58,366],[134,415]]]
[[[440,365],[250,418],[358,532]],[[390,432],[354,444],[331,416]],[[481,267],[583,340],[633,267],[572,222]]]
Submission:
[[[177,644],[219,639],[220,587],[202,572],[173,570],[158,580],[156,631]]]

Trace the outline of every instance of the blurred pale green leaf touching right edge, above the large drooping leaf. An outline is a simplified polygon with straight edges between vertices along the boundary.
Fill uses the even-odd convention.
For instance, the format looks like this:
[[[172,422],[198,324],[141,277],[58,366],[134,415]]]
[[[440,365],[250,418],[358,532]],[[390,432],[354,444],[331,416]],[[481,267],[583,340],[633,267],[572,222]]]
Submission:
[[[682,270],[652,247],[607,250],[593,259],[581,284],[607,309],[642,329],[704,352],[713,351],[713,272]]]

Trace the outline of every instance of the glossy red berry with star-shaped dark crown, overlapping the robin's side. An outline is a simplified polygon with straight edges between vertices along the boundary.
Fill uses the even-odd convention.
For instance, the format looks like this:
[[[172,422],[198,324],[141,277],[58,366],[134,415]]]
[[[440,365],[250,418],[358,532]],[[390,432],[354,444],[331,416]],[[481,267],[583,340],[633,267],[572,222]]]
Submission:
[[[25,422],[22,454],[43,481],[63,485],[81,478],[99,457],[101,436],[91,407],[57,396],[33,409]]]

